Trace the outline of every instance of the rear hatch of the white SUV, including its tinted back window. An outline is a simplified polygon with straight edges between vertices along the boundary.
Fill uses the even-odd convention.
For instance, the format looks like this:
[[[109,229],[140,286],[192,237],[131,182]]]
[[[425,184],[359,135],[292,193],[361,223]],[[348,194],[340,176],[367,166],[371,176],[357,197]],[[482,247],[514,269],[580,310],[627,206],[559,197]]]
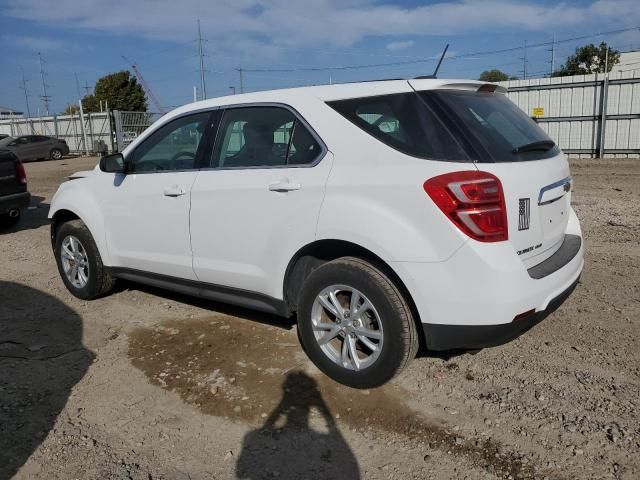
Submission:
[[[525,266],[553,255],[564,239],[571,203],[569,164],[555,143],[495,85],[425,90],[419,80],[410,83],[464,144],[476,168],[502,183],[509,242]]]

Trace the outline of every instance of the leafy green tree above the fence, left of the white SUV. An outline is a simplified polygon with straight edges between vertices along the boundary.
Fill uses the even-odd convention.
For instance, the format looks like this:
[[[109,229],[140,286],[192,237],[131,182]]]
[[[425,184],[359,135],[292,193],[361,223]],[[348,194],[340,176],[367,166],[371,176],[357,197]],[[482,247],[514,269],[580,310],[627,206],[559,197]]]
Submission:
[[[110,73],[96,82],[92,95],[82,99],[85,112],[99,112],[100,102],[111,110],[146,112],[147,98],[142,86],[127,70]]]

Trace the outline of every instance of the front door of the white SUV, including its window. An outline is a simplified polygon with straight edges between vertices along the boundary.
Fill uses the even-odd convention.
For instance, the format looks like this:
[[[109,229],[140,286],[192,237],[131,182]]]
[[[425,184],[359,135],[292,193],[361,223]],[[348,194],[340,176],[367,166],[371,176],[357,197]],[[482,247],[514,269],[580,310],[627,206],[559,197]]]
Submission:
[[[167,123],[127,153],[126,175],[100,175],[113,266],[195,278],[190,195],[210,116],[201,112]]]

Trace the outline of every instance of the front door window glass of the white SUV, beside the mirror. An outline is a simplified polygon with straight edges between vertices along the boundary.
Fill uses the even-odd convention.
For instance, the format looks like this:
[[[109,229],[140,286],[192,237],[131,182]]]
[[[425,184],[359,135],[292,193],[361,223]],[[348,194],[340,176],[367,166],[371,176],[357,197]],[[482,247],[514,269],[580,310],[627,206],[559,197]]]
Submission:
[[[133,152],[132,171],[144,173],[195,168],[209,116],[209,112],[196,113],[160,127]]]

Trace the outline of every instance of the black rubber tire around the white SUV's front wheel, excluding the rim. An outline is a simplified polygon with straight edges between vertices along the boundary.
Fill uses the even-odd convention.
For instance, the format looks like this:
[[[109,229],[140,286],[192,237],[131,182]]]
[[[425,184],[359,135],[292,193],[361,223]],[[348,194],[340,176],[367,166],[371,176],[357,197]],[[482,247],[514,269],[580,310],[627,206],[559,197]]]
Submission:
[[[88,281],[83,287],[77,287],[67,278],[62,261],[62,244],[68,236],[77,238],[88,259]],[[93,240],[91,232],[82,220],[65,222],[56,230],[56,244],[54,248],[58,272],[67,289],[76,297],[83,300],[93,300],[109,294],[115,287],[116,279],[112,277],[102,264],[100,252]]]

